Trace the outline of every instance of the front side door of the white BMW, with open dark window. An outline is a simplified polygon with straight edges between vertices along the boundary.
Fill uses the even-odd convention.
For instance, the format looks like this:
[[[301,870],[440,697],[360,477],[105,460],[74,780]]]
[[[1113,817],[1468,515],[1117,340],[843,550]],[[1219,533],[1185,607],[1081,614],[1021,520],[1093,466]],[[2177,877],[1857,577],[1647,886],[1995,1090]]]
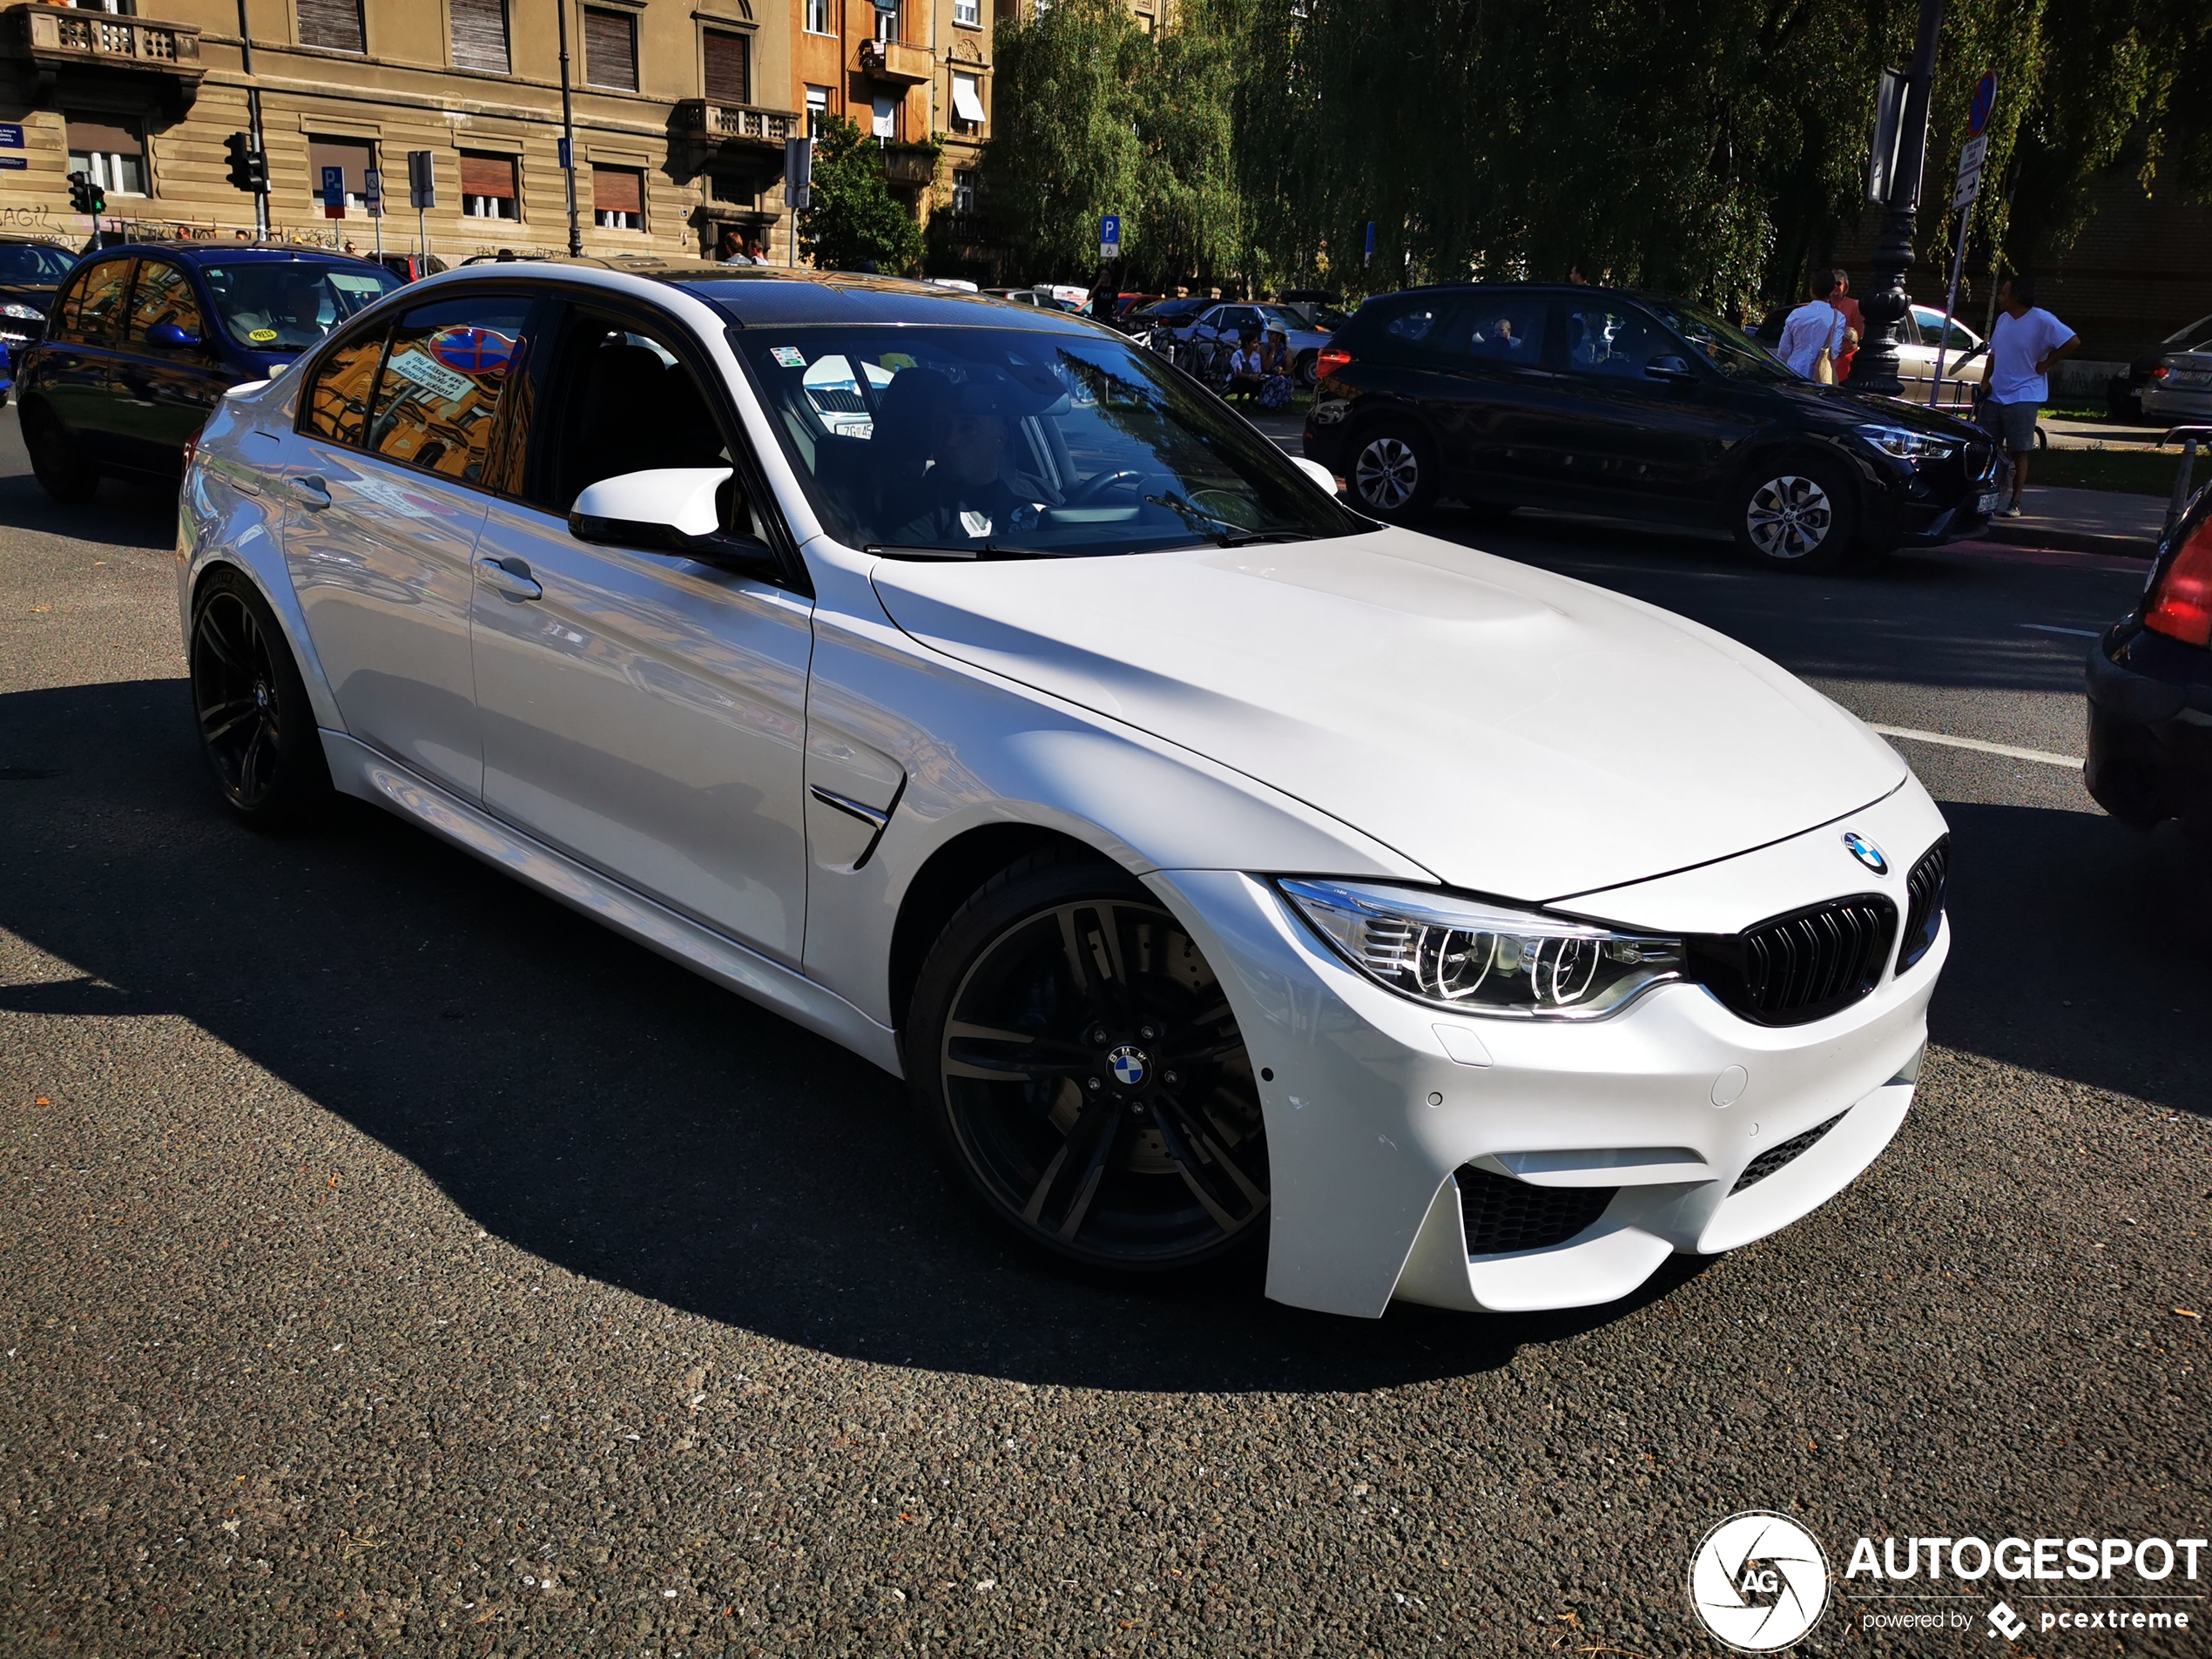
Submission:
[[[602,478],[732,462],[752,476],[701,367],[672,323],[577,312],[566,325],[531,440],[533,500],[493,504],[478,546],[484,805],[796,967],[812,602],[568,531]],[[726,529],[765,529],[743,487]]]

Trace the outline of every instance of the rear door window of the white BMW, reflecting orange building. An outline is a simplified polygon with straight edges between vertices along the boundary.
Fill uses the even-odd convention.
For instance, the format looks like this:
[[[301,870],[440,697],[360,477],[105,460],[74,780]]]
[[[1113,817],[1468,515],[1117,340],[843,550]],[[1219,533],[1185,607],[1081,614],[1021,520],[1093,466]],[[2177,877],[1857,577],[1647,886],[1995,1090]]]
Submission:
[[[467,484],[504,476],[493,429],[500,394],[522,363],[529,310],[526,299],[471,294],[400,316],[376,380],[369,449]]]

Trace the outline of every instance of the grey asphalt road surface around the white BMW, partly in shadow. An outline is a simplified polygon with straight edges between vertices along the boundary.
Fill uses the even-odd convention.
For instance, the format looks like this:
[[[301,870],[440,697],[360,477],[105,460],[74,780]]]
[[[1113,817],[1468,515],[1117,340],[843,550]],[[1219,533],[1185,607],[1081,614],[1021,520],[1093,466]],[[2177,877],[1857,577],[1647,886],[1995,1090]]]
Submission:
[[[1741,1509],[1838,1571],[1858,1535],[2208,1533],[2172,1310],[2212,1312],[2212,860],[2075,770],[1900,741],[1955,832],[1936,1046],[1781,1237],[1573,1316],[1124,1294],[1006,1252],[845,1053],[367,807],[226,823],[168,504],[22,471],[7,411],[9,1655],[1703,1655],[1683,1573]],[[2139,584],[1440,529],[1882,723],[2073,757],[2088,639],[2046,630]],[[1905,1588],[1971,1588],[1973,1628],[1840,1601],[1803,1650],[1995,1652],[1986,1586]]]

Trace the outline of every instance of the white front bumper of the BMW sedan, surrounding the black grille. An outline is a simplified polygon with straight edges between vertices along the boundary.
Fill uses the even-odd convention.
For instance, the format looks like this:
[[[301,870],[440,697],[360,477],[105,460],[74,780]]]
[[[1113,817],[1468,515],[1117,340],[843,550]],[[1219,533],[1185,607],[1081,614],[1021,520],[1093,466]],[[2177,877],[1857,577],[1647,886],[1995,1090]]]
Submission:
[[[1893,854],[1885,878],[1851,865],[1843,830]],[[1902,916],[1905,872],[1940,834],[1942,816],[1907,781],[1836,825],[1562,909],[1728,931],[1889,891]],[[1378,1316],[1394,1296],[1464,1310],[1606,1303],[1668,1254],[1790,1225],[1896,1135],[1949,951],[1947,925],[1907,973],[1801,1026],[1752,1024],[1694,984],[1588,1024],[1455,1018],[1354,973],[1261,878],[1183,869],[1152,883],[1230,987],[1263,1068],[1267,1294],[1336,1314]],[[1763,1150],[1829,1119],[1809,1148],[1736,1190]],[[1469,1256],[1460,1170],[1615,1192],[1559,1243]]]

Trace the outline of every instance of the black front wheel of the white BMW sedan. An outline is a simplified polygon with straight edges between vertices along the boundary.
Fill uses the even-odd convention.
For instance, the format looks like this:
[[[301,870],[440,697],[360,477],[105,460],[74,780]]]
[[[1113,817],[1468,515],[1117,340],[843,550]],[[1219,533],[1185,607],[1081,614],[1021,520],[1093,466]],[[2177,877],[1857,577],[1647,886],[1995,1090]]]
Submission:
[[[1237,1018],[1126,872],[1033,854],[993,876],[922,962],[905,1053],[947,1164],[1033,1250],[1141,1279],[1265,1248]]]

